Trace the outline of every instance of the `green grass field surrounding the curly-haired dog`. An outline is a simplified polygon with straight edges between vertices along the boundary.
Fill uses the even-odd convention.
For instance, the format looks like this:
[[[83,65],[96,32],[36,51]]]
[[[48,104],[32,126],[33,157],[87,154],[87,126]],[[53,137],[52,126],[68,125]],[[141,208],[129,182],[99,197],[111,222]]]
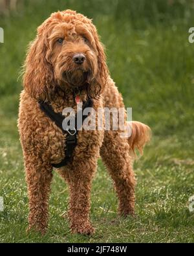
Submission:
[[[153,130],[144,156],[135,163],[136,218],[119,218],[112,181],[99,161],[92,185],[92,237],[71,235],[62,215],[67,185],[54,174],[47,235],[26,233],[28,198],[17,133],[21,80],[28,41],[56,10],[72,8],[92,17],[107,48],[111,76],[133,108],[133,119]],[[193,95],[194,27],[191,1],[23,1],[17,13],[0,16],[0,212],[1,242],[194,242]]]

